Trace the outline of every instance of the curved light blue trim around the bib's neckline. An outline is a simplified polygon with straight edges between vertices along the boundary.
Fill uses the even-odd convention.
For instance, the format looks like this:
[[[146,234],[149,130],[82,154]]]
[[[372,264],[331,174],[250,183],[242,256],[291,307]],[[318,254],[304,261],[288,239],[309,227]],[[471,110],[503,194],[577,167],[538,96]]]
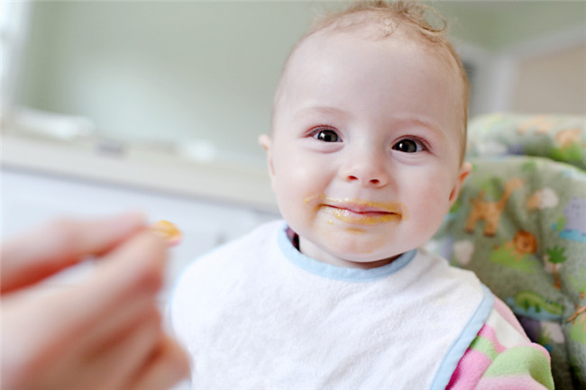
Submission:
[[[407,266],[409,262],[417,254],[417,249],[409,250],[401,256],[393,260],[391,263],[377,268],[362,269],[362,268],[344,268],[336,267],[332,264],[327,264],[322,261],[317,261],[314,258],[309,258],[303,253],[299,252],[293,246],[287,237],[287,225],[281,228],[278,232],[277,240],[279,248],[291,263],[299,268],[305,269],[319,277],[326,277],[328,279],[343,280],[345,282],[371,282],[390,274],[397,272],[399,269]]]

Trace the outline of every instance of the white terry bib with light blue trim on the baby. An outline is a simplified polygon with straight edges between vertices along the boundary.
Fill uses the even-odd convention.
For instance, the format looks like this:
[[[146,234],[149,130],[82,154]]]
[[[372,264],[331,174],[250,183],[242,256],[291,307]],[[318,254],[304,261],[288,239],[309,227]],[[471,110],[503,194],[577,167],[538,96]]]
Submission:
[[[172,298],[194,388],[444,388],[493,297],[423,250],[387,266],[307,258],[270,222],[193,263]]]

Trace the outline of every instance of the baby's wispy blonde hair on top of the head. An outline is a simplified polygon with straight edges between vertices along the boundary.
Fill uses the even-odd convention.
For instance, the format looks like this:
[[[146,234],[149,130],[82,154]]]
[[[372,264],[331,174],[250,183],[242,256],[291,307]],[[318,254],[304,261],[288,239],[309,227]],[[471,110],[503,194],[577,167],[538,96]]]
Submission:
[[[458,73],[462,83],[462,100],[460,106],[462,109],[462,145],[461,161],[463,159],[466,147],[466,129],[468,123],[468,99],[470,94],[470,84],[466,71],[463,67],[462,60],[453,48],[452,43],[447,38],[447,22],[435,8],[430,5],[424,5],[414,0],[359,0],[354,1],[352,5],[343,11],[329,14],[316,21],[307,33],[297,42],[291,50],[283,75],[288,68],[289,59],[298,47],[310,36],[318,32],[340,32],[352,29],[360,29],[365,25],[374,24],[378,29],[380,38],[392,35],[398,29],[407,39],[416,41],[431,50],[440,59],[445,59],[448,66],[453,66]],[[279,100],[282,88],[282,79],[279,81],[277,94],[275,95],[275,104]],[[273,105],[273,115],[274,115]]]

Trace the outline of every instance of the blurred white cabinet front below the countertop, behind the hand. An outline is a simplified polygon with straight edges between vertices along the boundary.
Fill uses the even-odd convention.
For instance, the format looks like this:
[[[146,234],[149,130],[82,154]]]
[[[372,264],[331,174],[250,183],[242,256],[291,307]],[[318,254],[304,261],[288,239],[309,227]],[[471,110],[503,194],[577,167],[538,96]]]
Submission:
[[[261,213],[243,206],[41,175],[22,169],[4,167],[1,181],[2,240],[56,218],[92,218],[130,210],[145,213],[150,222],[168,220],[177,224],[183,240],[170,250],[161,304],[167,300],[179,273],[192,260],[251,231],[261,222],[278,218],[275,213]],[[69,277],[58,277],[50,285],[67,285],[69,280]]]

